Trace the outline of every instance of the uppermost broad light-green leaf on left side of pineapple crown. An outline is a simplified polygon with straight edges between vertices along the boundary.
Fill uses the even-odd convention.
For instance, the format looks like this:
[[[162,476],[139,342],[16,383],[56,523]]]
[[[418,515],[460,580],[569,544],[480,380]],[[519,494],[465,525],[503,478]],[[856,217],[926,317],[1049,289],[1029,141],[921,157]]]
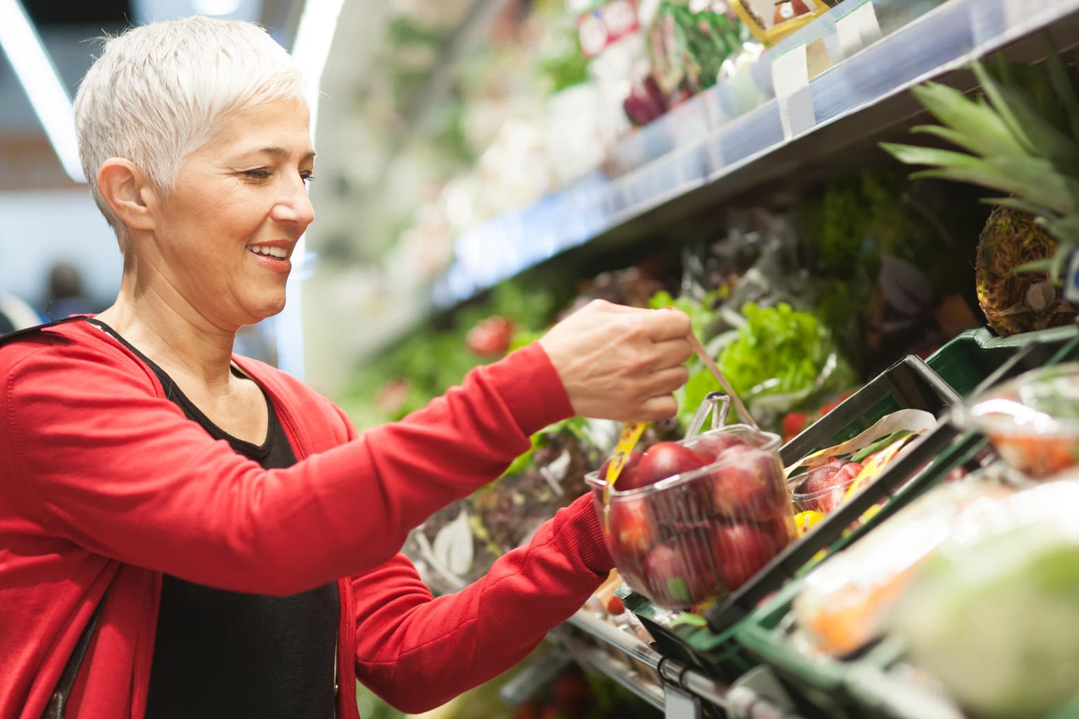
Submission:
[[[926,83],[911,91],[929,112],[952,128],[947,135],[933,125],[915,127],[916,133],[931,133],[950,142],[983,155],[1024,154],[1023,146],[993,108],[970,99],[954,87]],[[976,128],[976,132],[972,132]]]

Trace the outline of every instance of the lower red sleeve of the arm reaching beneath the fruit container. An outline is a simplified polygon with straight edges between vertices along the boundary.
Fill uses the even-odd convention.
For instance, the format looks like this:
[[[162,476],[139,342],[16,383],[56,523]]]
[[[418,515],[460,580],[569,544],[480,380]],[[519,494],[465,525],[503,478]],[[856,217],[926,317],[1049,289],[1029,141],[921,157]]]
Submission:
[[[523,659],[614,566],[589,495],[480,580],[432,598],[404,555],[353,580],[356,677],[402,711],[425,711]]]

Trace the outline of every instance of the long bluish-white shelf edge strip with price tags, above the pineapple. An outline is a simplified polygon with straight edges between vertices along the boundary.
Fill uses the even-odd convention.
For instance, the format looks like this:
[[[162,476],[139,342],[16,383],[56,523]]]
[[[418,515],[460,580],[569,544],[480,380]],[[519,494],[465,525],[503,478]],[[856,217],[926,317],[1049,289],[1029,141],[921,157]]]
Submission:
[[[1079,11],[1079,0],[870,0],[880,39],[845,58],[836,24],[865,1],[844,0],[765,52],[748,68],[752,107],[746,107],[745,82],[720,83],[626,138],[613,157],[618,176],[595,171],[461,235],[452,265],[433,285],[434,307],[452,307],[807,133]],[[816,43],[832,65],[809,82],[810,122],[788,136],[771,64]]]

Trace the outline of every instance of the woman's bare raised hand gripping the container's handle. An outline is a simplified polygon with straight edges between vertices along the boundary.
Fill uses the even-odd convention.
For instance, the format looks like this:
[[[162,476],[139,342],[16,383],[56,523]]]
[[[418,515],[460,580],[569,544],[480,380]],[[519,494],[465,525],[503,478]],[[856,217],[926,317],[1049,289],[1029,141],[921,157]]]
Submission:
[[[673,416],[672,392],[693,355],[689,318],[678,309],[638,309],[593,300],[552,327],[540,344],[575,414],[622,421]]]

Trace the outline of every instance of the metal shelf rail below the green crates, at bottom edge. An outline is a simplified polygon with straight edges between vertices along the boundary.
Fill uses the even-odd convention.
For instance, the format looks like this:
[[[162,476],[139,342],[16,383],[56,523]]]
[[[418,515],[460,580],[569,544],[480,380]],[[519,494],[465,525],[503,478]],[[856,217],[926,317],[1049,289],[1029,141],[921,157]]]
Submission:
[[[610,677],[653,706],[664,709],[665,716],[681,719],[686,704],[706,701],[732,717],[743,719],[802,719],[754,692],[749,686],[729,687],[723,682],[688,668],[669,659],[637,637],[618,630],[592,613],[582,609],[566,620],[566,625],[588,635],[595,642],[559,637],[575,659]],[[596,644],[598,642],[598,644]],[[601,646],[613,649],[613,659]],[[634,664],[644,665],[652,674],[641,677]],[[670,701],[678,696],[675,705]],[[698,715],[699,716],[699,715]]]

